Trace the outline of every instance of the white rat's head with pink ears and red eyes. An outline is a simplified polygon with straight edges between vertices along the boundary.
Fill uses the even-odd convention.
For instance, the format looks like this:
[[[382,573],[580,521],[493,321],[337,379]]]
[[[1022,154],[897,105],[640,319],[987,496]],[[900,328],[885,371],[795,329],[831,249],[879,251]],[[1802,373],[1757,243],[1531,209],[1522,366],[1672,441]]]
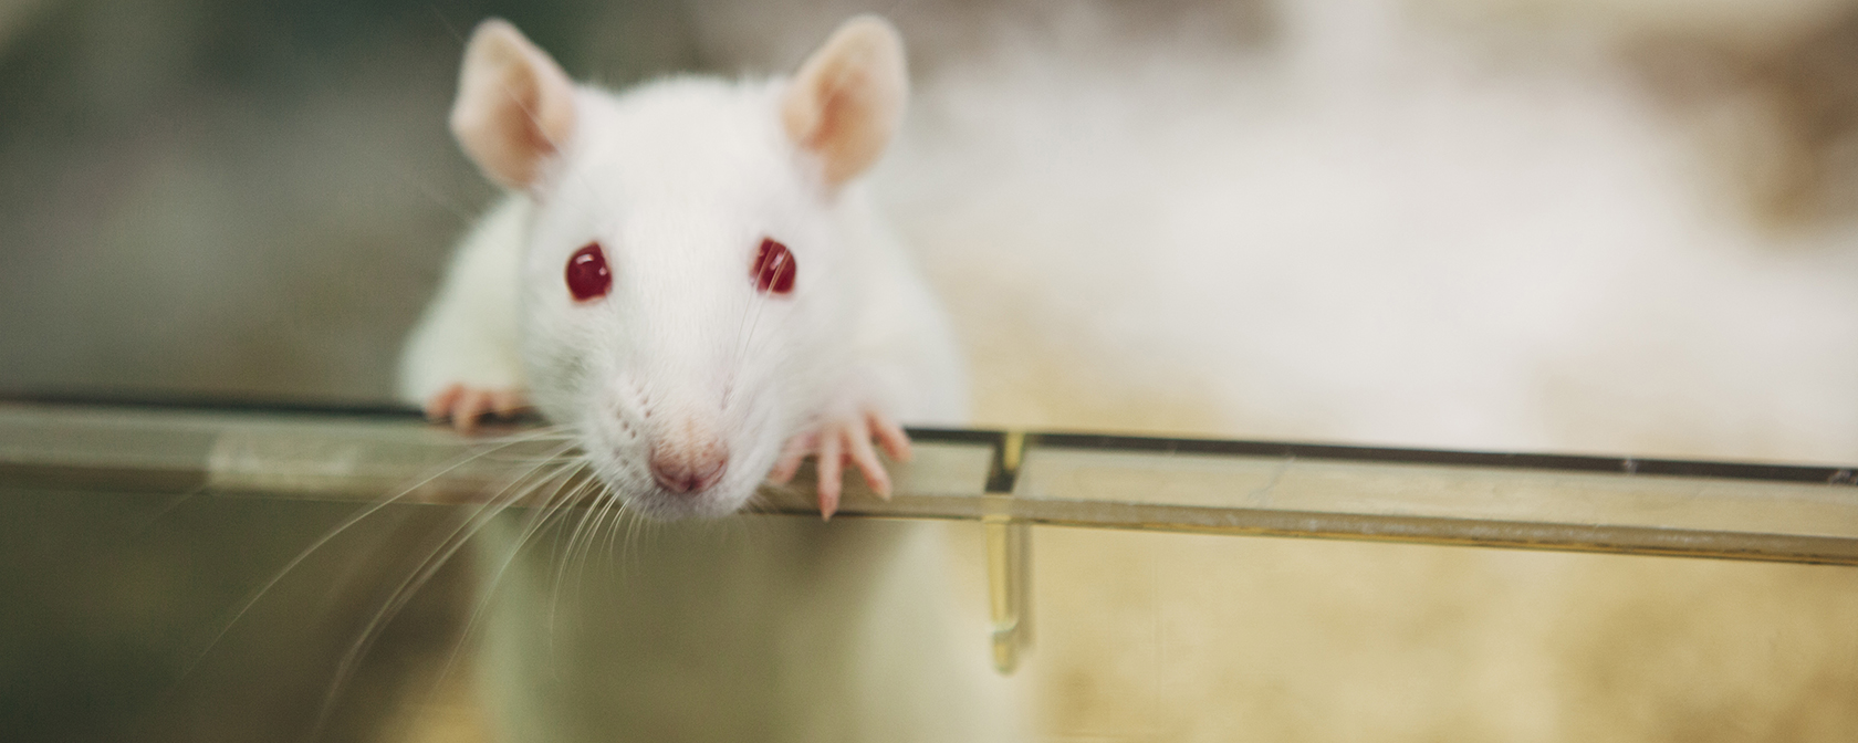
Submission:
[[[502,20],[478,26],[451,130],[531,202],[530,392],[637,513],[739,509],[853,383],[864,256],[845,189],[890,141],[905,91],[901,41],[870,17],[792,80],[621,95],[576,87]]]

